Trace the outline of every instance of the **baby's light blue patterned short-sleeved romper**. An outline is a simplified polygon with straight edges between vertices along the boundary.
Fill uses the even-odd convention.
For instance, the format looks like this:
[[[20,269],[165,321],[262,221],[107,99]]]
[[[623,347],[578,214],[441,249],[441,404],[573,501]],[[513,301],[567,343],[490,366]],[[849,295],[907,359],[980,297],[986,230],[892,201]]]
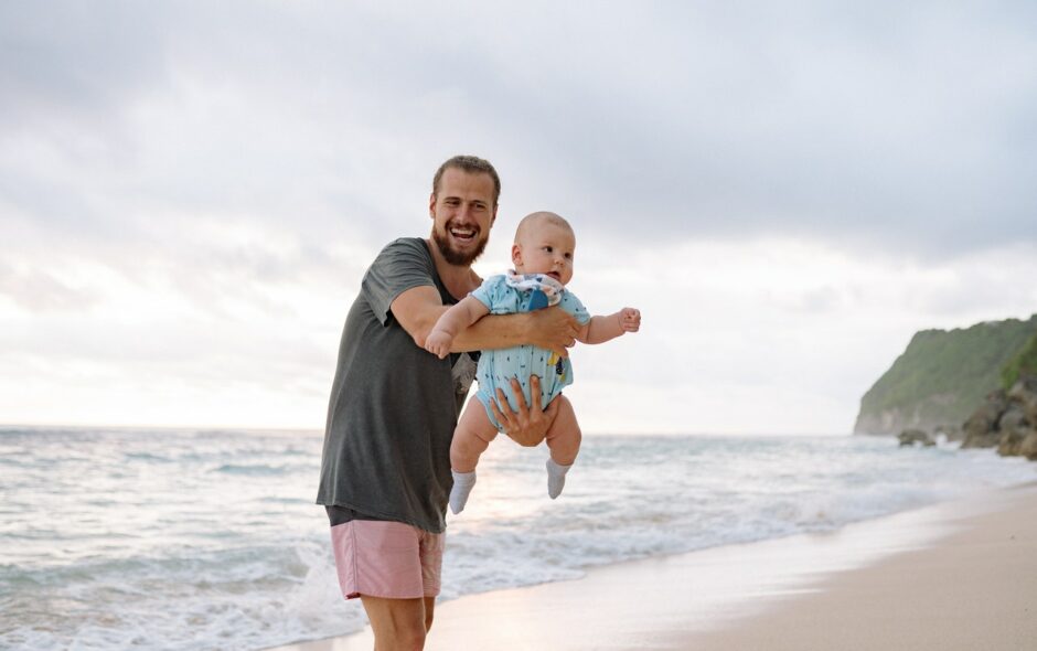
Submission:
[[[487,278],[472,296],[487,306],[491,314],[530,312],[557,305],[576,317],[581,326],[590,321],[590,314],[584,303],[560,282],[544,274],[518,275],[509,271],[507,275],[492,276]],[[531,375],[541,378],[541,406],[547,408],[563,388],[573,384],[573,364],[568,357],[559,357],[548,350],[528,344],[480,353],[479,369],[475,371],[479,393],[475,397],[485,407],[487,416],[498,431],[504,429],[490,408],[490,401],[495,401],[496,387],[504,389],[512,410],[517,410],[518,405],[512,396],[511,378],[518,377],[526,404],[532,405]]]

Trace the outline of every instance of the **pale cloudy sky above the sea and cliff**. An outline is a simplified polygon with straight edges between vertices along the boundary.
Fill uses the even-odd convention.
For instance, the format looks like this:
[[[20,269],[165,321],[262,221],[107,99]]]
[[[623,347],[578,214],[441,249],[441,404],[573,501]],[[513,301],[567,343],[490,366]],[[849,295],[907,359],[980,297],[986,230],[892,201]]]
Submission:
[[[566,216],[585,429],[852,430],[911,335],[1037,312],[1026,2],[0,3],[0,423],[323,427],[436,168]]]

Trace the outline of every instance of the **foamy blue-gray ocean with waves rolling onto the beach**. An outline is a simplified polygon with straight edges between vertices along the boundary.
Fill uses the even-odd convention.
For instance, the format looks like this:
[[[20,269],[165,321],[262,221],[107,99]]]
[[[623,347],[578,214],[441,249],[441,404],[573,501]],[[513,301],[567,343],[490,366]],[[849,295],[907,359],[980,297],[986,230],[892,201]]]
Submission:
[[[256,650],[356,631],[314,505],[312,431],[0,428],[0,649]],[[1037,465],[870,437],[494,442],[448,517],[441,599],[591,566],[838,529],[1037,479]]]

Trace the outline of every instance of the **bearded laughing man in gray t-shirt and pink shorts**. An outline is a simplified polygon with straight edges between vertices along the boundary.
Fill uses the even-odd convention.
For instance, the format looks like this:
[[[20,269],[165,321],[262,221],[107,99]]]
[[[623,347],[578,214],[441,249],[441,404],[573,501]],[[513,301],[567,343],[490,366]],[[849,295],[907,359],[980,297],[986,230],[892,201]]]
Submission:
[[[343,596],[361,598],[377,651],[423,649],[431,627],[450,438],[474,377],[466,351],[531,343],[564,355],[575,341],[575,319],[550,308],[487,317],[443,360],[424,350],[448,306],[481,282],[471,265],[490,237],[500,192],[488,161],[446,161],[432,179],[430,237],[397,239],[378,254],[343,329],[317,502],[331,521]],[[535,446],[554,414],[542,410],[538,387],[526,406],[513,384],[518,410],[501,392],[495,415],[509,436]]]

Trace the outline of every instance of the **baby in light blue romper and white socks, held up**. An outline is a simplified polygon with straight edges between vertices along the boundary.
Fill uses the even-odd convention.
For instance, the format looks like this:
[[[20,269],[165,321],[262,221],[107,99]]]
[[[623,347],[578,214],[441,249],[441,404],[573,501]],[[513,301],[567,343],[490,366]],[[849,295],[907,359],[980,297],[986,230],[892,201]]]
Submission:
[[[514,271],[488,278],[482,286],[447,310],[425,341],[425,348],[440,359],[450,352],[458,332],[488,313],[510,314],[560,306],[576,317],[580,324],[577,340],[584,343],[603,343],[624,332],[637,332],[641,327],[641,312],[623,308],[608,317],[591,317],[565,286],[573,279],[573,254],[576,235],[569,223],[554,213],[538,212],[527,215],[518,224],[511,257]],[[547,494],[557,498],[565,487],[565,473],[579,452],[580,430],[573,405],[562,389],[573,383],[569,360],[548,350],[520,345],[502,350],[482,351],[479,357],[479,393],[468,403],[453,431],[450,445],[450,467],[453,490],[450,509],[460,513],[475,485],[475,465],[496,437],[503,431],[493,416],[491,403],[498,387],[504,388],[512,409],[517,403],[511,396],[511,378],[518,377],[526,404],[530,396],[530,376],[539,377],[541,405],[558,402],[554,420],[547,429]]]

